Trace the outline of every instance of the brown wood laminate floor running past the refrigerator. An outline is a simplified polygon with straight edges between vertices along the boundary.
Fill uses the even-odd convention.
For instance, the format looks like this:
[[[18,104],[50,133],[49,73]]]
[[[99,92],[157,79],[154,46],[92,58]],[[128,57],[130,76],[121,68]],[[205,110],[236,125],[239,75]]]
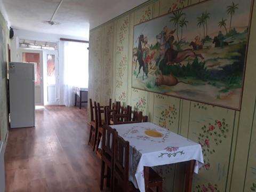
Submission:
[[[36,110],[36,127],[12,129],[6,191],[100,191],[100,159],[87,145],[86,119],[85,108],[52,106]]]

